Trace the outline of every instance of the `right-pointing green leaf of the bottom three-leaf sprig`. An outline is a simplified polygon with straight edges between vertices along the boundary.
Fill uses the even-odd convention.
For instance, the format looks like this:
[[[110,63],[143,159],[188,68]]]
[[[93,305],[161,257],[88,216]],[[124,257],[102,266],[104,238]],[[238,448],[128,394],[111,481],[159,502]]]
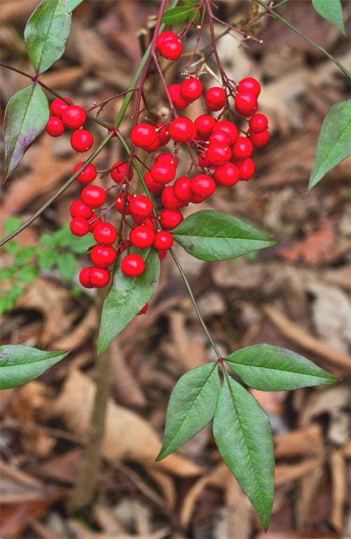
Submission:
[[[225,361],[245,384],[260,391],[284,391],[338,381],[300,354],[270,344],[247,346]]]

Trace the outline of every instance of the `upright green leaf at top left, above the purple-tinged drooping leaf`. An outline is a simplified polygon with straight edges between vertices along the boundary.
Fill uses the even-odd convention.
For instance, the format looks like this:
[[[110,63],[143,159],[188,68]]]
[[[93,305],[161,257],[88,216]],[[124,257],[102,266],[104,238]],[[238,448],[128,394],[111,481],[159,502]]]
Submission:
[[[65,0],[42,0],[25,26],[29,60],[37,74],[44,73],[65,51],[71,15]]]

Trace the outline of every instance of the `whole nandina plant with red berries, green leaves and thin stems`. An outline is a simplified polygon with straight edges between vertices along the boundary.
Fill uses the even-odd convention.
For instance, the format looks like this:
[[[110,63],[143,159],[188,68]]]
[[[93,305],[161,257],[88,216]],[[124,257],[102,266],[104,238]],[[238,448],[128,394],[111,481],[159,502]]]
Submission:
[[[84,160],[77,159],[72,176],[58,192],[4,238],[1,245],[29,226],[72,182],[81,183],[80,198],[74,200],[70,207],[72,220],[69,227],[72,235],[90,238],[91,266],[81,269],[81,285],[106,290],[98,332],[98,357],[106,353],[112,339],[135,316],[147,313],[148,301],[159,282],[161,261],[165,256],[172,257],[217,361],[192,369],[178,380],[168,404],[164,443],[157,460],[173,453],[213,421],[213,436],[220,455],[248,495],[263,528],[267,529],[274,496],[272,431],[265,411],[249,388],[282,391],[331,384],[336,382],[336,377],[298,353],[270,344],[248,346],[223,358],[208,332],[183,268],[172,249],[176,242],[190,256],[218,261],[234,259],[276,243],[262,230],[232,215],[200,209],[183,219],[182,213],[183,207],[201,204],[217,189],[235,189],[239,181],[250,181],[255,173],[255,152],[270,140],[269,120],[259,111],[260,83],[252,76],[239,81],[227,76],[216,48],[218,38],[214,22],[224,25],[226,32],[237,32],[246,41],[264,44],[249,33],[250,23],[245,29],[239,29],[218,19],[210,0],[183,0],[183,3],[175,0],[167,11],[166,0],[161,0],[152,41],[131,86],[123,92],[123,104],[111,125],[100,119],[100,112],[110,99],[94,103],[84,110],[40,79],[41,74],[64,53],[71,13],[81,1],[43,0],[29,17],[25,42],[34,74],[4,65],[32,81],[15,93],[6,108],[5,178],[11,176],[29,145],[44,130],[44,136],[55,138],[70,130],[72,150],[78,154],[93,148],[93,135],[88,129],[91,122],[104,126],[106,135]],[[312,1],[324,18],[343,31],[338,0],[329,5]],[[274,11],[279,4],[267,6],[262,0],[256,0],[251,25],[270,15],[313,44],[310,38]],[[258,5],[263,6],[263,11],[258,11]],[[176,27],[165,30],[165,25]],[[206,25],[211,40],[199,49]],[[192,30],[197,32],[197,39],[190,51],[187,36]],[[185,74],[178,70],[178,82],[168,86],[164,66],[169,61],[176,62],[182,58],[185,49],[189,57]],[[350,78],[345,67],[329,53],[326,54]],[[208,67],[209,58],[216,61],[217,73]],[[159,74],[159,84],[168,108],[168,112],[159,117],[150,107],[145,91],[151,66],[156,67]],[[48,97],[53,98],[51,103],[48,103]],[[129,114],[132,100],[135,101],[132,112],[134,125],[130,136],[124,138],[119,127],[126,113]],[[192,122],[183,111],[195,100],[201,102],[204,110]],[[93,111],[95,113],[92,114]],[[326,117],[310,178],[311,187],[326,171],[349,155],[349,117],[350,102],[334,105]],[[99,173],[93,160],[112,139],[121,143],[125,157],[110,164],[107,173],[112,185],[102,188],[95,183]],[[180,160],[185,159],[187,174],[181,176],[178,167]],[[135,193],[138,182],[143,186],[142,195]],[[0,387],[6,389],[24,384],[66,355],[67,352],[63,351],[46,352],[29,346],[2,346]],[[98,360],[98,365],[103,365],[105,360],[104,355]],[[97,401],[100,389],[98,386]],[[101,398],[100,403],[102,401]],[[102,415],[105,408],[102,405]],[[93,413],[92,417],[96,420],[97,416]],[[98,452],[99,443],[94,447],[93,451]],[[96,462],[96,459],[91,460]],[[83,481],[81,488],[84,488],[84,474],[80,481]]]

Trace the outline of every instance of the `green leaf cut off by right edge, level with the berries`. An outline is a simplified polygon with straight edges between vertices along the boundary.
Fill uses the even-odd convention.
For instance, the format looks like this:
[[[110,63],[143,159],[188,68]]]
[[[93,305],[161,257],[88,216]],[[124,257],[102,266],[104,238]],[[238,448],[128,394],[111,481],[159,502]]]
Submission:
[[[329,170],[351,154],[351,100],[336,103],[324,118],[310,176],[312,189]]]

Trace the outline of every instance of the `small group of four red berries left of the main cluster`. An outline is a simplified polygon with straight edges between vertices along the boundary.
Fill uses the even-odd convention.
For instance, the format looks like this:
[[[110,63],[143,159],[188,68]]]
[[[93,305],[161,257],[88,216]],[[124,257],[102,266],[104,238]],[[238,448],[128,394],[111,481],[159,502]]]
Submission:
[[[71,146],[76,152],[87,152],[94,143],[93,135],[86,129],[81,129],[86,122],[86,111],[79,105],[74,105],[72,99],[65,97],[54,99],[50,105],[51,117],[46,124],[46,133],[50,136],[61,136],[68,129],[74,129],[71,135]]]

